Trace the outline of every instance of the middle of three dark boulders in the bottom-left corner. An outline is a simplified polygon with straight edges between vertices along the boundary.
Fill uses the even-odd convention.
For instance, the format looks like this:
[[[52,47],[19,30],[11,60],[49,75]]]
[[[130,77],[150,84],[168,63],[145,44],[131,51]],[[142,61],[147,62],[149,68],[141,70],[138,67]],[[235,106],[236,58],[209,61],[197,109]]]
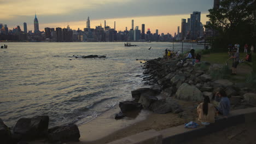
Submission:
[[[48,134],[49,116],[21,118],[13,128],[16,140],[33,140]]]

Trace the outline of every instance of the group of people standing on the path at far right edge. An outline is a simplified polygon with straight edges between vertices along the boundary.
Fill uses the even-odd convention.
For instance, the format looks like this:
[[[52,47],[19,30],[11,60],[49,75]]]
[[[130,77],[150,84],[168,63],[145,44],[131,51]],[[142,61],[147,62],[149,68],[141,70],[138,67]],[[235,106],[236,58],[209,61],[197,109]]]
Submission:
[[[236,68],[237,68],[237,65],[239,64],[239,62],[243,62],[243,61],[246,61],[246,62],[252,62],[252,54],[253,54],[253,51],[254,51],[254,47],[253,45],[251,45],[251,53],[248,52],[248,45],[245,44],[244,46],[244,52],[246,52],[246,57],[243,58],[241,61],[240,61],[240,55],[239,55],[239,48],[240,48],[240,45],[239,44],[235,44],[234,47],[232,47],[232,45],[229,45],[228,46],[228,49],[229,49],[229,59],[232,59],[232,74],[231,75],[236,75]]]

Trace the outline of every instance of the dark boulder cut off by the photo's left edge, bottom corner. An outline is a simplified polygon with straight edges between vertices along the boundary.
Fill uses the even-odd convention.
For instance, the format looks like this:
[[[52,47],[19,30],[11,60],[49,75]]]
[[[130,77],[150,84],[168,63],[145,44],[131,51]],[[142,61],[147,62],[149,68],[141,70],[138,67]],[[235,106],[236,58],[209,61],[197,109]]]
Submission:
[[[11,143],[11,131],[0,118],[0,143]]]

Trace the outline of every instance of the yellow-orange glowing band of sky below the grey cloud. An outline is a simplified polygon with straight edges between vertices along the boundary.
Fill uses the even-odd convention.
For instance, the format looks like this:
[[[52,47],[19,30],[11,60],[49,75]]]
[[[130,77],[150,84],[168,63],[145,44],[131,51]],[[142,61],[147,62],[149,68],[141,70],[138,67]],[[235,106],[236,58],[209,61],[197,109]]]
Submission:
[[[208,13],[201,14],[201,22],[205,25],[206,21],[209,21],[208,17],[206,17]],[[117,18],[117,19],[101,19],[94,20],[93,17],[90,17],[90,26],[91,28],[95,28],[96,26],[102,25],[104,27],[104,20],[106,20],[106,25],[114,28],[115,21],[115,29],[116,31],[125,31],[125,27],[129,31],[131,29],[131,20],[134,20],[134,27],[138,26],[141,30],[141,25],[145,24],[145,33],[147,29],[150,28],[151,33],[155,33],[156,29],[159,30],[159,34],[170,33],[174,36],[174,33],[177,34],[177,27],[180,27],[181,32],[181,19],[190,18],[190,14],[185,15],[166,15],[166,16],[145,16],[145,17],[126,17],[126,18]],[[77,30],[78,28],[82,31],[86,28],[86,20],[84,21],[73,21],[73,22],[57,22],[57,23],[43,23],[40,24],[40,16],[38,16],[39,28],[40,31],[44,31],[45,27],[50,28],[67,28],[67,25],[73,30]],[[22,26],[23,28],[23,26]],[[28,29],[32,29],[33,24],[28,25]]]

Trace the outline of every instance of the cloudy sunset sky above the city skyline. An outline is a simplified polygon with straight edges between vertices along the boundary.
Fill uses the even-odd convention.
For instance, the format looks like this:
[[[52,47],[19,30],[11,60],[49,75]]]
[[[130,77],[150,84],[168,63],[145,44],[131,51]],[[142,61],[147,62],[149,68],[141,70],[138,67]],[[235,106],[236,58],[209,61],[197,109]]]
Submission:
[[[99,26],[104,20],[117,31],[124,31],[144,23],[146,28],[155,33],[177,32],[181,19],[187,19],[193,11],[201,11],[201,22],[208,21],[208,9],[213,7],[213,0],[0,0],[0,23],[9,29],[26,22],[28,30],[33,30],[34,14],[37,14],[39,29],[45,27],[67,27],[83,29],[90,16],[91,27]]]

